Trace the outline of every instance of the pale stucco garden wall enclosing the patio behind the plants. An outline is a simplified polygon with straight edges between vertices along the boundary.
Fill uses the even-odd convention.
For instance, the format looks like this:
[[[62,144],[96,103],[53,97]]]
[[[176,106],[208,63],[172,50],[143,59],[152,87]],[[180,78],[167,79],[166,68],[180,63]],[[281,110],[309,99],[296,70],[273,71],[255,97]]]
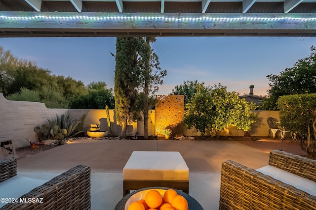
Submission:
[[[117,125],[114,110],[110,111],[111,127],[114,135],[118,136],[121,127]],[[279,119],[277,111],[255,111],[259,113],[260,119],[254,124],[254,128],[249,132],[252,136],[267,136],[269,126],[267,118],[273,117]],[[105,109],[47,109],[43,103],[26,102],[26,101],[9,101],[0,93],[0,137],[6,137],[13,140],[15,148],[29,145],[25,138],[31,141],[37,140],[34,127],[47,122],[47,119],[55,118],[56,115],[69,114],[73,119],[81,119],[86,116],[83,121],[83,129],[89,130],[91,123],[100,124],[101,130],[109,130],[107,125],[107,114]],[[230,133],[225,132],[222,135],[243,136],[244,132],[236,128],[229,128]],[[134,122],[127,127],[128,136],[133,136],[138,132],[138,136],[144,136],[144,122]],[[185,135],[199,135],[194,129],[185,130]],[[155,110],[152,110],[149,117],[148,135],[155,135]]]

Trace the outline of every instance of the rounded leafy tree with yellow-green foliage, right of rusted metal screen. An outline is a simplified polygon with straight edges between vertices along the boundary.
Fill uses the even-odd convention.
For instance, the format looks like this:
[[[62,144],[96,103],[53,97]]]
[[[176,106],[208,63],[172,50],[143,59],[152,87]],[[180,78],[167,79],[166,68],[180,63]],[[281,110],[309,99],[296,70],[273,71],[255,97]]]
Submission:
[[[228,92],[221,84],[214,87],[198,85],[186,107],[185,124],[189,128],[194,126],[202,135],[210,131],[219,136],[229,126],[247,131],[257,118],[251,111],[255,109],[253,103],[240,99],[236,92]]]

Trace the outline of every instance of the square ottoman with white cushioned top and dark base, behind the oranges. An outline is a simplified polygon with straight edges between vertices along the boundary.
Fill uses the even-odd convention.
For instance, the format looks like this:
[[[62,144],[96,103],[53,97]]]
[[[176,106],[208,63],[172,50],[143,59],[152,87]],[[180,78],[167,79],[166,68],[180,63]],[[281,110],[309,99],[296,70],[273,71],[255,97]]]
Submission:
[[[155,186],[189,194],[189,168],[179,152],[133,151],[123,168],[123,195]]]

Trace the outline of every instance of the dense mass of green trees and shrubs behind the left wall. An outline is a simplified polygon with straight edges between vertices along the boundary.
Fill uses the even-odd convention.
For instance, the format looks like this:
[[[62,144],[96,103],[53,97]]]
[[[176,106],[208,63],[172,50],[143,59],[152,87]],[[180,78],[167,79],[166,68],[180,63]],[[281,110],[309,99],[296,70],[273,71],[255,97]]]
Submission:
[[[88,90],[96,90],[91,93]],[[114,94],[104,82],[87,87],[81,81],[40,68],[34,61],[14,57],[0,46],[0,92],[7,99],[38,101],[47,108],[114,108]]]

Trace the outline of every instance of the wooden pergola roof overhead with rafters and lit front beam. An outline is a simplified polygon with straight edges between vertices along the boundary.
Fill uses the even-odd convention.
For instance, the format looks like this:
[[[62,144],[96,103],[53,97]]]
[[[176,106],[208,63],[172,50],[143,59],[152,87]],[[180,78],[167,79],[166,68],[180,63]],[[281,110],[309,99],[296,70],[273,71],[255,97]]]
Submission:
[[[0,37],[316,36],[316,0],[0,0]]]

